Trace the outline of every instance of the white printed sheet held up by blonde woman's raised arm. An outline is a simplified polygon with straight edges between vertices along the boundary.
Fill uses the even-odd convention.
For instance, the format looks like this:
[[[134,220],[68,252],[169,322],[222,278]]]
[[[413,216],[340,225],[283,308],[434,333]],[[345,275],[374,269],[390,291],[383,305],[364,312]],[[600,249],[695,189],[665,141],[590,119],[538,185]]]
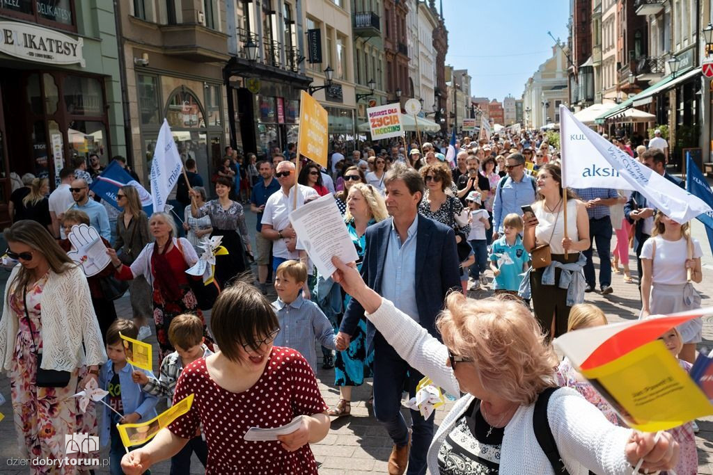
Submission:
[[[299,243],[322,276],[331,276],[337,270],[332,256],[339,257],[342,262],[359,259],[332,194],[295,209],[289,214],[289,221],[299,236]]]

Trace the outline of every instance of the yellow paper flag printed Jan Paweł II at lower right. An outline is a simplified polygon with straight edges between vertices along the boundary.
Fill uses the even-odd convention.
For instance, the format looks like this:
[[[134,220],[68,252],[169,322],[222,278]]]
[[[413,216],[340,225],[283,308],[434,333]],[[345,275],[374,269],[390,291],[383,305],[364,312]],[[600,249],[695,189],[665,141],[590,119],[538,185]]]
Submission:
[[[713,414],[707,397],[661,340],[582,374],[634,429],[656,432]]]

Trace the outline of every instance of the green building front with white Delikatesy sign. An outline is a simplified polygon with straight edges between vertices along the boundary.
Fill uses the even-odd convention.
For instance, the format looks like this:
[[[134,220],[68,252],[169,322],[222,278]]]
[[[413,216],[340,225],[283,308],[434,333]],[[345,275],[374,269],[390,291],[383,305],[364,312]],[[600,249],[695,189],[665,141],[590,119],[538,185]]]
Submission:
[[[0,2],[0,224],[16,177],[127,155],[113,2]]]

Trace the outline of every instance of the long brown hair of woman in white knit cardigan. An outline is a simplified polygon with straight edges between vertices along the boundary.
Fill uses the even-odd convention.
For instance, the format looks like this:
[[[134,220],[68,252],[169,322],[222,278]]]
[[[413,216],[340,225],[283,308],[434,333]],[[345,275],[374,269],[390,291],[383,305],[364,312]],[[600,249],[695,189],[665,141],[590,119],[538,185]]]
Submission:
[[[71,266],[74,266],[73,261],[69,259],[67,253],[49,234],[47,228],[37,221],[29,219],[17,221],[5,229],[4,238],[8,243],[19,242],[30,246],[35,253],[42,254],[54,273],[63,273]],[[25,266],[20,266],[19,271],[8,284],[10,286],[10,291],[7,293],[8,298],[11,294],[14,294],[15,298],[22,298],[23,289],[30,283],[31,278],[32,273]],[[5,304],[9,305],[9,300]]]

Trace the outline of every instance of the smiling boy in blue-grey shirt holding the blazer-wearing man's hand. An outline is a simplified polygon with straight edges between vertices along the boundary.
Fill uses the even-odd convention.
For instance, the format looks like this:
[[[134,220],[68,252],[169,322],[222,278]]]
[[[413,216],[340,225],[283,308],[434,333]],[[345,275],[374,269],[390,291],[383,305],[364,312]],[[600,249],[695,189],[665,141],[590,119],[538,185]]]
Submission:
[[[307,281],[307,267],[299,261],[284,261],[275,272],[277,300],[272,308],[279,322],[279,333],[275,346],[286,346],[299,351],[309,366],[317,366],[314,339],[329,348],[336,349],[336,339],[332,323],[317,306],[317,303],[302,298],[302,287]]]

